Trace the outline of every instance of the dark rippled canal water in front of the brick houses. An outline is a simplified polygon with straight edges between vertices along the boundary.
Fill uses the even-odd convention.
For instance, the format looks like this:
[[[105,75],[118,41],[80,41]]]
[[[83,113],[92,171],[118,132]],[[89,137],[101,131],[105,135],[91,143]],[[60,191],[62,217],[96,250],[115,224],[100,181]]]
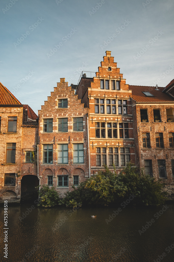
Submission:
[[[8,258],[3,207],[0,211],[0,261],[174,261],[173,204],[77,210],[8,206]]]

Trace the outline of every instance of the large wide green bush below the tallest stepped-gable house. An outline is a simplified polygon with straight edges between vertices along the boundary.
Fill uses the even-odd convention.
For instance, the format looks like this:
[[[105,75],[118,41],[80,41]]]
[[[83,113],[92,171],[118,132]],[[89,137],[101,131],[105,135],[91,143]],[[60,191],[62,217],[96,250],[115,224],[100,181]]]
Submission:
[[[160,205],[165,201],[163,187],[163,184],[146,176],[143,171],[140,176],[137,166],[130,162],[119,175],[105,166],[105,171],[99,171],[76,189],[74,187],[73,191],[67,192],[63,203],[72,207],[80,202],[83,205],[108,206],[121,203],[134,194],[136,197],[131,204]]]

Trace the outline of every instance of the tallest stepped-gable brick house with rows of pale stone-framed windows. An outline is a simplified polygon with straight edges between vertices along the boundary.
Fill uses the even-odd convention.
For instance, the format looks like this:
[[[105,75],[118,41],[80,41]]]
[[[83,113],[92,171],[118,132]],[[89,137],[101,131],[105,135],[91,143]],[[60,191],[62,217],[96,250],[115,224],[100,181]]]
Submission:
[[[135,163],[131,90],[117,63],[106,51],[96,77],[82,75],[76,94],[89,108],[91,174],[106,164],[119,173],[127,162]]]

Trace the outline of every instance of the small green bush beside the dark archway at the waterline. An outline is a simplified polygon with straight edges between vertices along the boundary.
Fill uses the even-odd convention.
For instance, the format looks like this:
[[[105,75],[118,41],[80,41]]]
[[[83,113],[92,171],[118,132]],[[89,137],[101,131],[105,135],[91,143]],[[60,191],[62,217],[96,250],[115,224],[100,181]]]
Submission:
[[[61,200],[54,187],[49,187],[48,185],[42,185],[38,191],[40,202],[38,206],[43,206],[45,208],[55,206],[60,204]]]

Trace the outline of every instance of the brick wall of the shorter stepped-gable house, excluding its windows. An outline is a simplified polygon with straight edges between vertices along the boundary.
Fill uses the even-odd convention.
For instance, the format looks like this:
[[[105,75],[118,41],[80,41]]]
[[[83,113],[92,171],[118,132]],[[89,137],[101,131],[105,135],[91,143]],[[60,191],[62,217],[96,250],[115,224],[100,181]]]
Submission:
[[[58,99],[68,99],[68,108],[58,108]],[[39,176],[41,178],[41,184],[47,184],[48,173],[45,170],[50,170],[50,174],[53,174],[53,185],[56,186],[56,190],[61,197],[67,190],[72,190],[73,175],[79,175],[79,183],[85,180],[85,177],[89,176],[88,168],[88,137],[87,137],[87,122],[86,114],[88,109],[84,108],[84,104],[77,95],[74,95],[74,91],[71,91],[71,87],[68,86],[68,82],[61,78],[61,82],[57,83],[57,87],[54,88],[54,92],[51,92],[51,96],[48,97],[48,101],[45,101],[45,105],[41,106],[39,110]],[[68,132],[58,132],[58,118],[68,118]],[[83,117],[83,131],[73,131],[73,117]],[[43,133],[43,119],[53,119],[53,132]],[[73,163],[73,144],[83,144],[84,149],[84,164]],[[53,145],[53,163],[43,163],[43,145]],[[68,164],[57,164],[57,145],[68,144]],[[62,171],[63,170],[63,171]],[[80,170],[80,171],[79,171]],[[45,173],[46,172],[46,173]],[[50,175],[49,174],[49,175]],[[68,175],[68,187],[57,187],[59,175]]]

